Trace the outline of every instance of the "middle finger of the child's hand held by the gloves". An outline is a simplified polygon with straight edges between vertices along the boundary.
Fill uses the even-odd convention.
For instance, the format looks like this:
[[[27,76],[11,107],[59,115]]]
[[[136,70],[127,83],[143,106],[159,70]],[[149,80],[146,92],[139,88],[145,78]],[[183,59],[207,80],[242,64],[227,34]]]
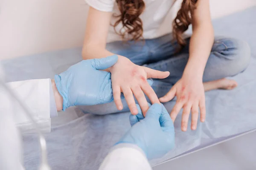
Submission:
[[[147,99],[145,98],[143,91],[141,90],[139,85],[132,87],[131,91],[133,92],[135,98],[137,99],[142,110],[142,113],[145,116],[146,112],[148,111],[148,102]]]

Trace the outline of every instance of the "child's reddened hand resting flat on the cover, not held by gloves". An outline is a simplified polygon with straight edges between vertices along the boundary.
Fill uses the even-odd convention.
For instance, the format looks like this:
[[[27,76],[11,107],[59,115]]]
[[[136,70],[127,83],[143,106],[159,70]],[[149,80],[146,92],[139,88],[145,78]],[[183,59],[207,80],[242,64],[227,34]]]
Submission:
[[[201,111],[201,122],[205,120],[205,95],[202,79],[183,76],[165,96],[160,98],[160,102],[169,102],[175,96],[177,96],[177,101],[171,112],[173,122],[183,108],[181,130],[187,130],[190,111],[191,129],[195,130],[198,122],[198,107]]]

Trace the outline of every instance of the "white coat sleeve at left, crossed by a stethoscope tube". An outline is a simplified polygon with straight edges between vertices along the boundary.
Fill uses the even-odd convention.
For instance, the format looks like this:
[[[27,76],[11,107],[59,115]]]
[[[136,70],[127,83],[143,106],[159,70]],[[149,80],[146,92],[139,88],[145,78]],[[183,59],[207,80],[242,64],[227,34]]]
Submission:
[[[7,83],[15,94],[24,102],[38,123],[42,132],[50,132],[51,116],[57,115],[50,79],[31,79]],[[6,108],[6,113],[13,112],[17,127],[24,133],[34,132],[35,127],[26,117],[20,105],[12,99],[13,107]],[[54,108],[55,107],[55,108]]]

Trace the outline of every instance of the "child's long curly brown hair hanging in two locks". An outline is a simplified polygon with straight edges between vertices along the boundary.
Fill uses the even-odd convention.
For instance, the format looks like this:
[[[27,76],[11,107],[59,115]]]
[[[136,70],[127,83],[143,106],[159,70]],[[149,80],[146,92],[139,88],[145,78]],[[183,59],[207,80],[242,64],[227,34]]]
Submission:
[[[196,8],[197,0],[183,0],[180,10],[177,12],[177,16],[173,21],[173,35],[177,40],[180,47],[186,45],[183,40],[182,34],[185,32],[191,23],[191,13]],[[123,40],[127,39],[125,37],[127,34],[131,35],[130,40],[140,40],[143,39],[143,22],[140,19],[140,14],[143,13],[145,9],[145,3],[143,0],[116,0],[117,6],[120,11],[120,15],[113,27],[116,31],[116,26],[122,23],[122,29],[119,34]]]

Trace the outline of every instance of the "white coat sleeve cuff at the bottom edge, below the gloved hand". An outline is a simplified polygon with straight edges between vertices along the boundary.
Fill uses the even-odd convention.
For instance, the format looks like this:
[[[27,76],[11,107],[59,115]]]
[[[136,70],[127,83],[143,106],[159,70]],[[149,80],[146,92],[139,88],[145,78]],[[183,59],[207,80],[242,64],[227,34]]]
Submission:
[[[117,144],[102,162],[99,170],[152,170],[143,153],[135,144]]]

